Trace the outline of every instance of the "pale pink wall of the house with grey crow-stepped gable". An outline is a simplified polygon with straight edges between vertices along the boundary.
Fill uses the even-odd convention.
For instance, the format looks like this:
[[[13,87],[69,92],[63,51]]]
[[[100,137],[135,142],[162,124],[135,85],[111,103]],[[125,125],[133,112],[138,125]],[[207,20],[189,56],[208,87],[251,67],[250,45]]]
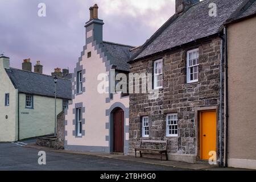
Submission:
[[[101,81],[97,80],[100,73],[105,73],[109,75],[106,71],[105,63],[102,57],[95,51],[95,47],[92,44],[87,45],[85,55],[87,52],[92,52],[92,56],[88,59],[86,56],[82,57],[83,68],[85,68],[85,93],[75,96],[73,104],[69,105],[68,114],[66,115],[66,120],[68,125],[65,130],[67,130],[67,140],[68,145],[75,146],[101,146],[108,147],[109,142],[106,141],[106,135],[109,135],[109,129],[106,129],[106,123],[109,122],[109,116],[106,116],[106,110],[108,110],[112,104],[115,102],[121,102],[126,107],[129,107],[129,97],[120,98],[120,94],[114,94],[113,100],[110,103],[106,103],[106,98],[109,94],[98,93],[97,87]],[[75,131],[75,125],[73,125],[73,119],[75,119],[75,114],[73,114],[73,108],[75,104],[82,102],[85,107],[85,113],[83,113],[82,118],[85,118],[85,125],[82,126],[82,130],[85,130],[85,136],[82,138],[76,138],[73,136],[73,131]],[[126,119],[126,126],[129,126],[129,119]],[[125,134],[125,138],[127,134]]]

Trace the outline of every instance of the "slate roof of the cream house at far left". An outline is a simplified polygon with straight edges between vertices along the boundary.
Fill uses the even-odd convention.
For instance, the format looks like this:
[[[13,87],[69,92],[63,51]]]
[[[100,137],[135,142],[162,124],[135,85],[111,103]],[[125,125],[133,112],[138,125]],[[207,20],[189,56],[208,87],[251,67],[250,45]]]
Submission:
[[[19,92],[39,96],[55,97],[55,83],[52,76],[23,71],[16,68],[6,69],[6,73]],[[56,93],[57,98],[71,100],[71,81],[63,78],[58,78],[56,84]]]

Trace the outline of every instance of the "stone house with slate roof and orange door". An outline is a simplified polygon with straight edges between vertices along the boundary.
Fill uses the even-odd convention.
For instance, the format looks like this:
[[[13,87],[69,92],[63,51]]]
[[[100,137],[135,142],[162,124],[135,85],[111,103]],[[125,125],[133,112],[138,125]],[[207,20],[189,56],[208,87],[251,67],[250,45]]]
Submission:
[[[223,24],[243,2],[177,0],[175,15],[129,61],[131,73],[154,75],[152,89],[159,92],[156,99],[130,93],[130,154],[141,138],[168,139],[170,160],[213,157],[223,164]]]

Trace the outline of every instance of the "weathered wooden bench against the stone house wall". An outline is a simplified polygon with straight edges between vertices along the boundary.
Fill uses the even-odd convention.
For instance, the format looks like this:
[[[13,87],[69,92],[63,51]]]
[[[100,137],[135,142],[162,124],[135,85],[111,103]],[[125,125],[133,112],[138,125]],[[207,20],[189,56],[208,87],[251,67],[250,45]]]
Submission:
[[[151,144],[163,144],[163,148],[156,148],[157,146],[155,146],[155,148],[142,148],[142,144],[143,143],[151,143]],[[158,145],[158,146],[159,146]],[[142,157],[142,152],[145,153],[158,153],[161,155],[161,160],[162,160],[162,155],[166,154],[166,160],[168,160],[168,155],[167,155],[167,140],[145,140],[145,139],[141,139],[141,144],[139,148],[135,148],[135,158],[137,158],[137,151],[139,151],[139,155],[140,157]]]

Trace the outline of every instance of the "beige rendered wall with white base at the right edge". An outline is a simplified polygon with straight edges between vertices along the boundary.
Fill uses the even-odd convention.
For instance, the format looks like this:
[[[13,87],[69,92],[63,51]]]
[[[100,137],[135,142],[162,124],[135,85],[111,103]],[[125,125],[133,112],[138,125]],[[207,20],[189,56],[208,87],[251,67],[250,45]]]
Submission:
[[[228,27],[228,164],[256,169],[256,17]]]

